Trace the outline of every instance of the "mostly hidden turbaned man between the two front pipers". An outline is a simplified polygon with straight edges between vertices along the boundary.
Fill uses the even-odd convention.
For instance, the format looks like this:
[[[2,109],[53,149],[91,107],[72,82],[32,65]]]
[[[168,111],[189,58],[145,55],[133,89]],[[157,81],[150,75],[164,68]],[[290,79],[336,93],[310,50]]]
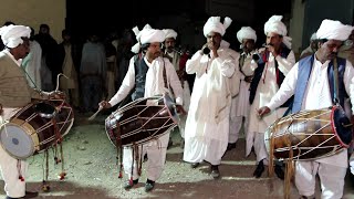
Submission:
[[[241,56],[237,71],[240,72],[241,81],[239,94],[232,97],[231,101],[231,113],[230,113],[230,133],[228,150],[236,148],[236,142],[239,138],[239,133],[242,127],[242,121],[244,117],[244,132],[248,127],[248,115],[250,112],[249,96],[250,96],[250,82],[253,76],[253,72],[257,69],[257,61],[252,59],[254,54],[254,45],[257,41],[256,31],[250,27],[242,27],[237,32],[237,39],[241,43]]]

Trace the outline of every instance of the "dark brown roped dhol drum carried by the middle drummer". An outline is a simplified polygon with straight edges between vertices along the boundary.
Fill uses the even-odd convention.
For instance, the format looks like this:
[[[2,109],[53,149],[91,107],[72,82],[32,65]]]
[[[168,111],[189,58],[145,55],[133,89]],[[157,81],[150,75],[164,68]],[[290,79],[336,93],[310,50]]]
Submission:
[[[113,112],[105,129],[113,145],[132,146],[158,138],[177,126],[175,103],[168,95],[143,97]]]

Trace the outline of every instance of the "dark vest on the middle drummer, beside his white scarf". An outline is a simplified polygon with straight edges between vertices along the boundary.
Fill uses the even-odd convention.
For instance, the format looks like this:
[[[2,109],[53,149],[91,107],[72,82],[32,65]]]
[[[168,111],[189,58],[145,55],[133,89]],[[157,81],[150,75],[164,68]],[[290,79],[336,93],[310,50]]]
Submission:
[[[144,61],[144,56],[139,57],[138,55],[134,56],[134,70],[135,70],[135,87],[132,94],[132,100],[144,97],[145,94],[145,82],[146,73],[148,70],[147,64]]]

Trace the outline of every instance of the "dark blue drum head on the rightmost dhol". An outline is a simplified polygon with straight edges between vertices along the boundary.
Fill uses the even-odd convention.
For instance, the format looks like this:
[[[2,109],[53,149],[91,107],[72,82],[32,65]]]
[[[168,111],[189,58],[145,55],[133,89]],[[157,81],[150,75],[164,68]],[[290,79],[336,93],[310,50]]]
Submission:
[[[352,142],[352,126],[351,121],[345,115],[345,112],[341,107],[334,106],[332,119],[334,122],[334,132],[341,138],[344,145],[348,145]]]

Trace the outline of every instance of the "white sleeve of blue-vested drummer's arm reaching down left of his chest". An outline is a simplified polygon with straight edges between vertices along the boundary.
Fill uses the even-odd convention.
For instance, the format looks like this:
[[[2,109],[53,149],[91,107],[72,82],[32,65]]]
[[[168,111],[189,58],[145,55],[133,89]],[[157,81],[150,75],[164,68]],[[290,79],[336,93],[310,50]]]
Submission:
[[[299,63],[290,70],[289,74],[285,76],[283,83],[281,84],[279,91],[272,97],[272,100],[267,104],[267,106],[273,111],[277,107],[284,104],[293,94],[296,87],[298,81]]]

